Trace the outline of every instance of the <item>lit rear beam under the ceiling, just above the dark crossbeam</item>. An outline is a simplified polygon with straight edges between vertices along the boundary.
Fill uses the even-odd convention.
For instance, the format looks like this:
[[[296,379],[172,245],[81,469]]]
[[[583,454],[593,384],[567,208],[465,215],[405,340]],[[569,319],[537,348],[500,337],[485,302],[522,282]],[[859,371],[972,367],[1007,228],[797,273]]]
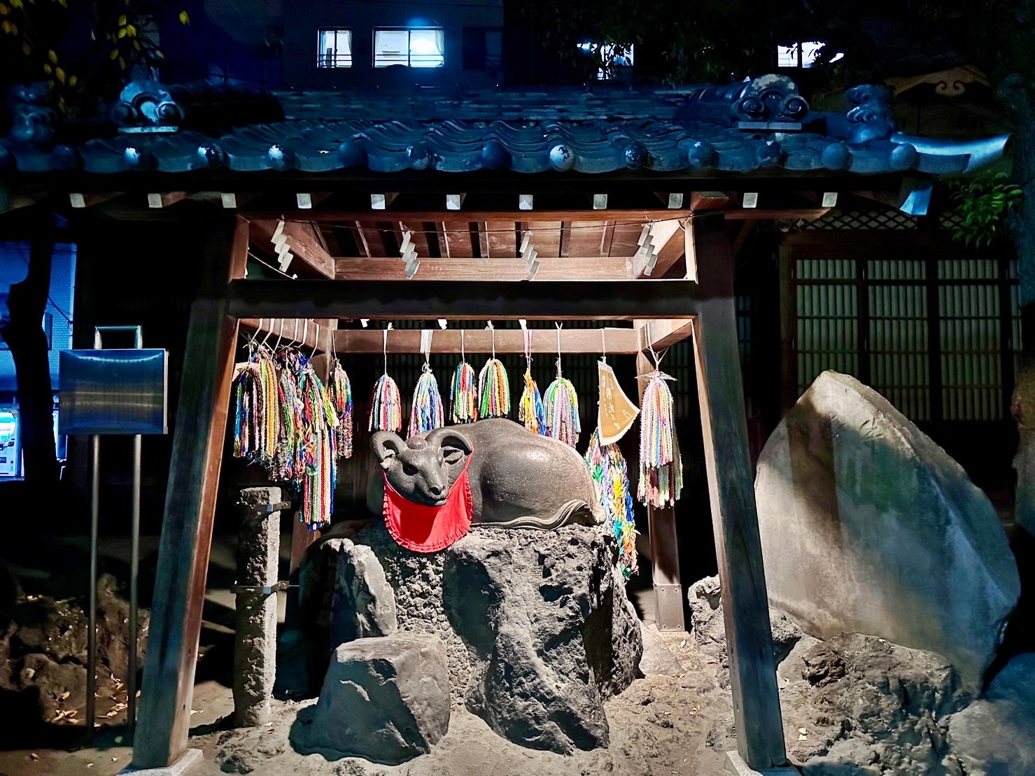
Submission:
[[[536,280],[628,280],[631,259],[608,257],[543,259]],[[336,258],[335,280],[405,280],[398,259]],[[420,257],[416,280],[524,280],[528,268],[521,259],[425,259]]]

